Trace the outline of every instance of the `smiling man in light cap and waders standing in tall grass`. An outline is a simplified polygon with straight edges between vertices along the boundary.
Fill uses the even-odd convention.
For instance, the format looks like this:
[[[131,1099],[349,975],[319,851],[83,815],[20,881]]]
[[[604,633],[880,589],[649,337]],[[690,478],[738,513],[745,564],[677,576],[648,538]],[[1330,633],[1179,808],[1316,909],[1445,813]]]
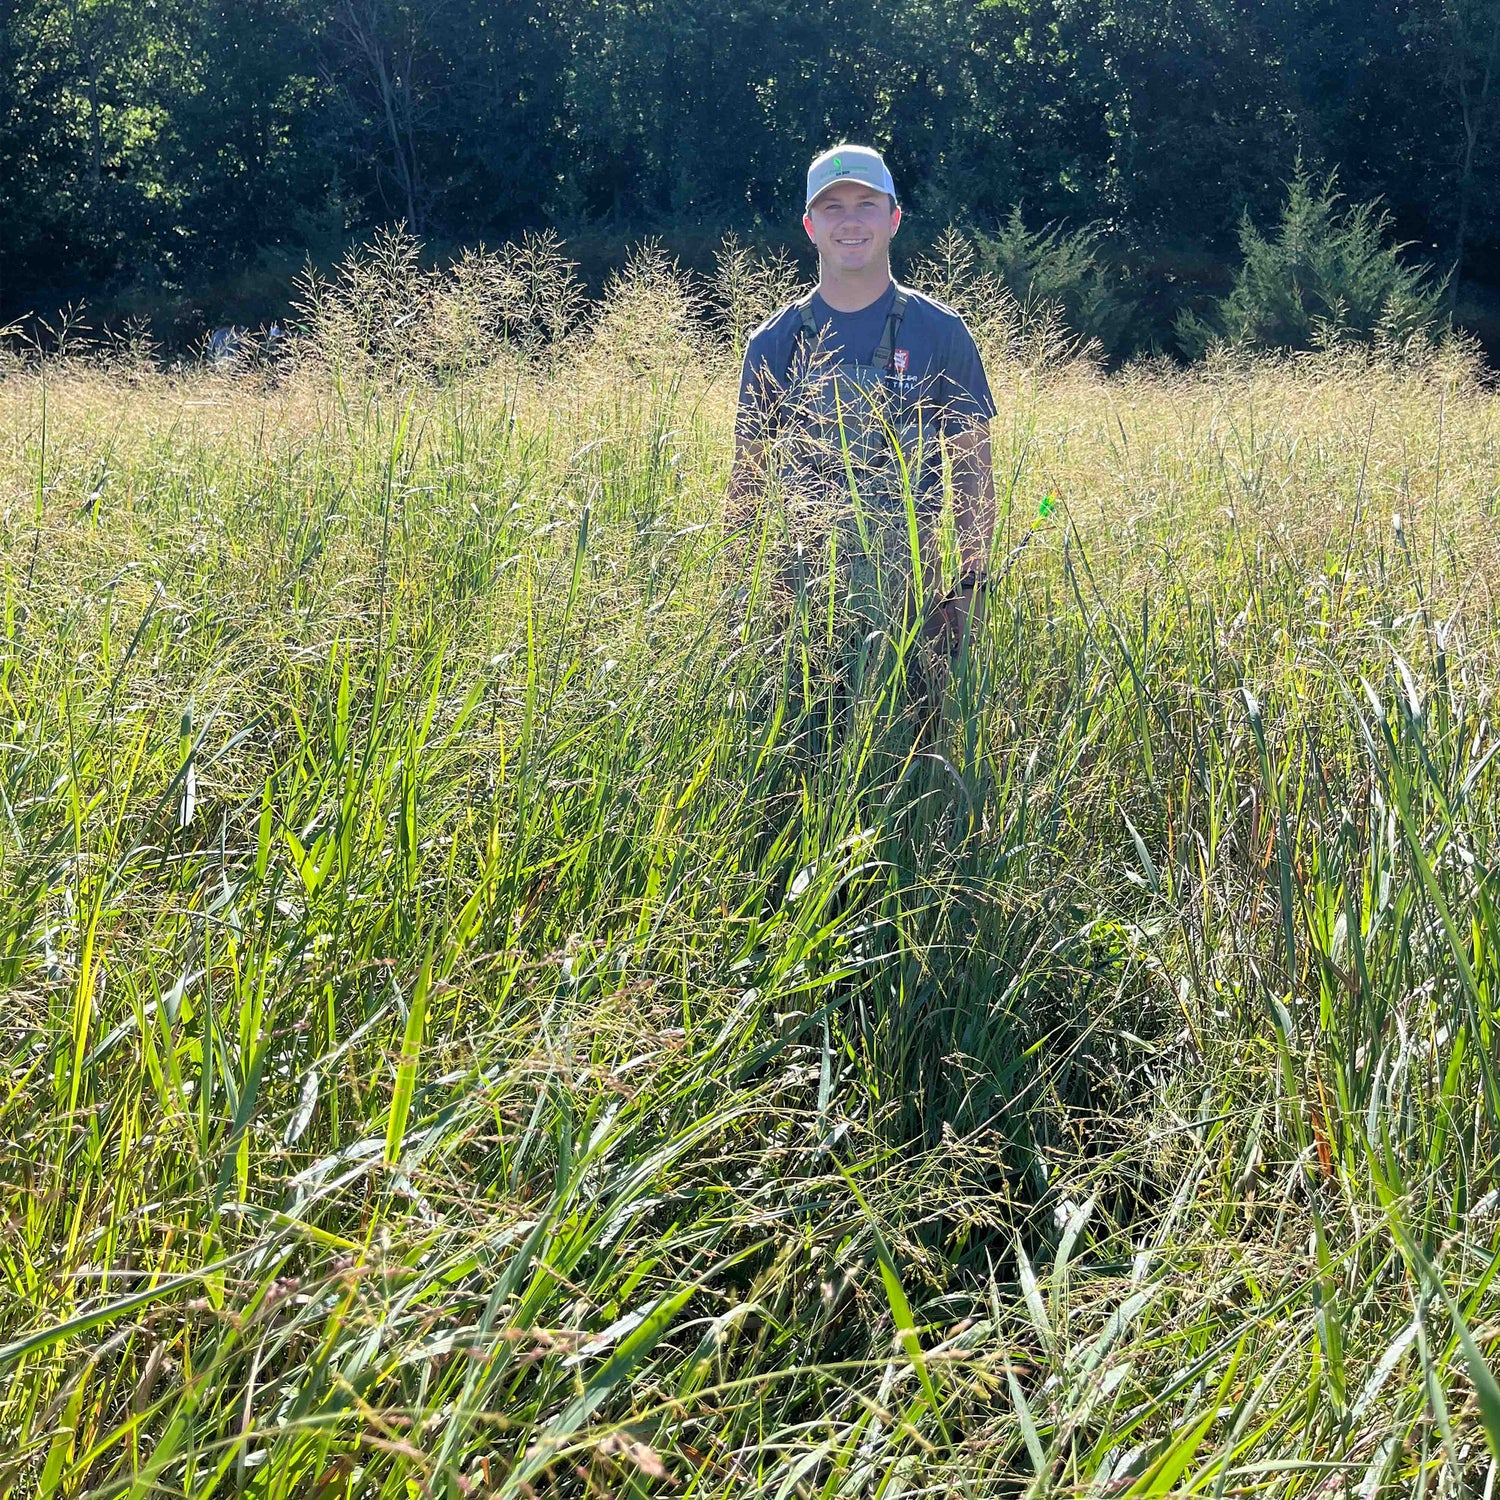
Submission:
[[[963,318],[891,278],[900,222],[879,152],[834,146],[808,168],[802,226],[818,246],[818,286],[750,336],[730,498],[746,501],[774,476],[798,500],[796,540],[820,549],[831,531],[832,554],[874,580],[886,612],[915,594],[915,518],[927,626],[956,639],[984,588],[994,530],[994,400]],[[946,590],[944,453],[957,534]]]

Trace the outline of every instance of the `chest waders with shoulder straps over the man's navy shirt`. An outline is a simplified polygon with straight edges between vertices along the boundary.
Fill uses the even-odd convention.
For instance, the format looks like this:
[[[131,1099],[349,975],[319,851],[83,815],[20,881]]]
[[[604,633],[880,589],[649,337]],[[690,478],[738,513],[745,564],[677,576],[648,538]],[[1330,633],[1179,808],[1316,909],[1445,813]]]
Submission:
[[[802,556],[832,561],[854,610],[884,622],[904,612],[912,579],[910,522],[927,528],[940,496],[940,454],[896,339],[908,294],[897,286],[868,363],[819,362],[812,297],[786,372],[782,472]],[[904,356],[902,360],[904,366]],[[826,578],[826,572],[824,572]]]

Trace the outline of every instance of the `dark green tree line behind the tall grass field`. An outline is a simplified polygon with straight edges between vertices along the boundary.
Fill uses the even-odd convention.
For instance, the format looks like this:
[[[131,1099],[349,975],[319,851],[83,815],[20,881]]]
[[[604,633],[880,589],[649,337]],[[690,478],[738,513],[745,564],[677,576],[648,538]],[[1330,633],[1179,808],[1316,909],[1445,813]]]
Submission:
[[[1500,0],[8,0],[0,318],[394,220],[784,234],[843,136],[914,226],[1089,225],[1167,302],[1336,168],[1456,297],[1497,75]]]

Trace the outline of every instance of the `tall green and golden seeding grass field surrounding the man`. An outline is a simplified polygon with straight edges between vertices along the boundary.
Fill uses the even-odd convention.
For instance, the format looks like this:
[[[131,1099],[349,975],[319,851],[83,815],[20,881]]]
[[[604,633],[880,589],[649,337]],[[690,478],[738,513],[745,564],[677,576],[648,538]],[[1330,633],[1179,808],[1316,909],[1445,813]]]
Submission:
[[[0,1496],[1490,1500],[1500,399],[976,320],[922,722],[652,276],[0,381]]]

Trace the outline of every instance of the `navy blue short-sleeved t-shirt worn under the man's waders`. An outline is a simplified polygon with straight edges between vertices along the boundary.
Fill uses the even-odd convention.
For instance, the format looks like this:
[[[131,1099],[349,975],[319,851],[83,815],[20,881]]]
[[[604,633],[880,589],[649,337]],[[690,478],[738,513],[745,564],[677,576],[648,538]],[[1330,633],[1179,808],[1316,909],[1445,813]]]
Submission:
[[[868,363],[885,332],[892,302],[894,282],[858,312],[836,312],[820,294],[813,292],[813,322],[822,330],[819,354]],[[801,312],[792,303],[750,334],[735,418],[735,432],[741,438],[759,441],[771,435],[777,398],[786,388],[801,324]],[[906,312],[894,350],[906,351],[908,388],[933,410],[945,432],[972,422],[988,422],[994,416],[994,398],[974,334],[952,308],[906,288]]]

